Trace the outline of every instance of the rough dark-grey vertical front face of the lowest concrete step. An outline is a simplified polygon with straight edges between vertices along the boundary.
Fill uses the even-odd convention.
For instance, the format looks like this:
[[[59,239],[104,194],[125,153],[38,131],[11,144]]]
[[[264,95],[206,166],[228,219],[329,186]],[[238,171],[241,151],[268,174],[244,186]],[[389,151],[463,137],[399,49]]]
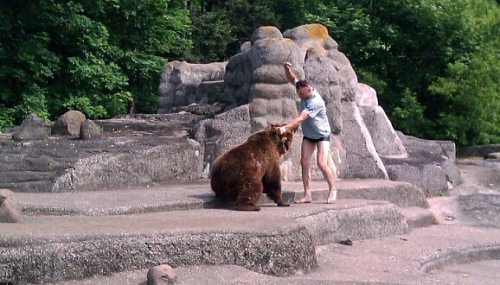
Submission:
[[[180,229],[92,234],[85,238],[58,235],[37,240],[2,240],[1,245],[0,264],[5,270],[2,277],[14,284],[82,279],[104,272],[149,268],[163,260],[182,266],[235,264],[275,276],[290,276],[317,267],[311,234],[305,227],[295,225],[275,231],[214,227],[208,232]]]

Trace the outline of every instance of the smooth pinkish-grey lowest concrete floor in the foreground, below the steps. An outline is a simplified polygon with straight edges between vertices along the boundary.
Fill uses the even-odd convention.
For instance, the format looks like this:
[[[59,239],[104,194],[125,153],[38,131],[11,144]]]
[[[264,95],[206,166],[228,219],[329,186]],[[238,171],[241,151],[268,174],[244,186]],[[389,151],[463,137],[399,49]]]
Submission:
[[[408,234],[316,247],[318,267],[290,277],[243,267],[188,266],[176,269],[178,284],[487,284],[500,280],[500,230],[437,225]],[[476,254],[474,254],[474,252]],[[466,256],[468,259],[463,259]],[[145,284],[147,270],[57,285]],[[121,283],[120,283],[121,282]]]

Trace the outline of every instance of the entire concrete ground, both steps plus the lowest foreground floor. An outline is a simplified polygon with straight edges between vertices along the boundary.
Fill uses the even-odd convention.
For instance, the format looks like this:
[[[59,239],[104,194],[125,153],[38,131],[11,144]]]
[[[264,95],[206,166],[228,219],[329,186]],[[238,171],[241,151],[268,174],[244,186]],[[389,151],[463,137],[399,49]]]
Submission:
[[[30,200],[29,195],[35,194],[25,193],[18,200],[32,216],[24,224],[0,227],[0,272],[11,264],[6,253],[18,251],[10,261],[25,262],[31,266],[26,269],[34,271],[30,274],[38,272],[46,276],[45,284],[57,285],[146,284],[148,269],[161,263],[173,265],[177,284],[186,285],[497,284],[500,225],[484,220],[500,216],[494,196],[500,194],[499,170],[472,164],[459,167],[464,183],[446,197],[427,199],[428,208],[417,207],[416,202],[398,207],[375,199],[375,191],[369,195],[374,199],[365,200],[362,193],[369,192],[369,185],[379,189],[375,185],[380,181],[363,180],[338,181],[339,196],[351,196],[334,205],[324,203],[326,183],[317,182],[313,194],[317,201],[289,208],[263,201],[263,209],[256,213],[217,204],[197,183],[181,183],[170,192],[154,186],[110,190],[106,196],[88,192],[76,199],[59,196],[71,194],[62,193]],[[387,182],[389,188],[400,187]],[[366,188],[359,186],[363,183]],[[289,183],[285,190],[290,198],[300,197],[301,185]],[[354,199],[356,191],[365,195],[362,200]],[[73,214],[61,215],[69,212]],[[347,238],[352,246],[339,243]],[[238,255],[240,251],[246,254]],[[47,256],[58,263],[44,263]],[[145,267],[134,268],[143,261]],[[37,267],[40,264],[46,265]],[[98,276],[60,281],[72,270],[91,268],[101,270],[87,271]],[[118,271],[123,272],[114,273]]]

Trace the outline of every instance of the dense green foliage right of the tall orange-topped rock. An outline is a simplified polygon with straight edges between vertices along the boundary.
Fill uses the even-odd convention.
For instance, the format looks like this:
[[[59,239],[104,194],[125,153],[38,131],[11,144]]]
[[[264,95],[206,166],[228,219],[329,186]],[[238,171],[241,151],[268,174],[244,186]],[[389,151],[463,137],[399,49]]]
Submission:
[[[475,93],[475,113],[491,110],[480,104],[486,97],[492,104],[498,101],[492,97],[495,92],[498,94],[498,81],[492,81],[488,91],[471,85],[472,82],[467,84],[469,88],[461,84],[485,80],[484,72],[488,74],[486,78],[491,75],[493,80],[491,66],[498,61],[485,56],[498,53],[498,47],[487,48],[485,39],[500,40],[498,11],[498,5],[488,0],[337,0],[322,1],[306,18],[323,23],[340,41],[340,49],[351,60],[359,80],[377,90],[379,102],[396,129],[422,138],[450,139],[468,145],[485,143],[486,137],[490,142],[499,142],[492,133],[492,115],[476,116],[481,123],[472,125],[469,121],[469,135],[460,134],[463,130],[455,124],[460,121],[455,112],[461,107],[455,102],[458,99],[450,99],[459,93]],[[490,20],[484,22],[485,18]],[[483,66],[485,61],[490,69]],[[455,91],[447,90],[453,84]],[[472,109],[464,107],[462,110]],[[479,126],[484,129],[472,130]],[[483,131],[489,135],[479,139]]]

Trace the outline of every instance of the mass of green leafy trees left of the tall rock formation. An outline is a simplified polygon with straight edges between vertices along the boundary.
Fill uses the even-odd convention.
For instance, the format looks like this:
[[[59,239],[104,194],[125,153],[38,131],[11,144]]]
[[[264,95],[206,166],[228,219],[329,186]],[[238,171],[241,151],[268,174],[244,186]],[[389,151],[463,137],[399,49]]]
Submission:
[[[0,7],[0,128],[29,113],[55,119],[155,112],[162,66],[192,48],[186,1],[7,0]]]

